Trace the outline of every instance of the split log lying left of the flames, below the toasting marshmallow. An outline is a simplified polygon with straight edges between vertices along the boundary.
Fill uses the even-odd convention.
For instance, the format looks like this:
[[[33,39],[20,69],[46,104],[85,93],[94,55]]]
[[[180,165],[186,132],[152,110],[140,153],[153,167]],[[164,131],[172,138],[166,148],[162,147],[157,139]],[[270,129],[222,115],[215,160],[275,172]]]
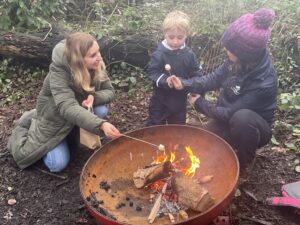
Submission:
[[[172,164],[170,161],[138,169],[133,173],[134,184],[137,188],[143,188],[147,184],[168,177],[171,169]]]

